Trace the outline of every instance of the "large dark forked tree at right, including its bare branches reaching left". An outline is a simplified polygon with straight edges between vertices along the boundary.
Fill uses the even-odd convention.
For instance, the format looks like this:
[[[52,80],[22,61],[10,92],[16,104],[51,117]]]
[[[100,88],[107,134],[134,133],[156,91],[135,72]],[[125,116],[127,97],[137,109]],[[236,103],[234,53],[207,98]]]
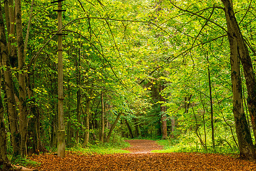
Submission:
[[[212,22],[214,25],[217,25],[218,27],[221,27],[222,30],[226,31],[225,28],[222,26],[218,25],[216,22],[210,20],[211,15],[209,18],[204,17],[203,15],[200,15],[197,13],[197,11],[189,11],[189,10],[184,10],[181,7],[178,7],[175,5],[172,1],[170,3],[176,7],[177,9],[180,9],[181,11],[184,11],[187,14],[192,14],[196,15],[199,18],[202,18],[206,21],[205,25],[201,28],[200,32],[202,29],[207,25],[208,22]],[[240,140],[239,143],[239,149],[241,152],[241,156],[245,158],[255,159],[255,152],[254,149],[252,148],[253,144],[251,141],[250,137],[250,132],[247,127],[247,121],[245,119],[245,115],[243,112],[243,107],[242,107],[242,101],[239,99],[239,96],[241,95],[242,97],[242,89],[241,88],[241,75],[239,74],[239,60],[241,60],[243,68],[245,72],[245,78],[246,82],[250,83],[250,86],[247,86],[248,88],[248,97],[249,101],[251,100],[251,93],[253,92],[252,90],[256,89],[254,86],[254,72],[253,72],[253,67],[250,64],[251,59],[249,55],[249,51],[247,50],[246,44],[243,40],[243,36],[241,33],[241,30],[238,27],[238,23],[235,19],[234,16],[234,11],[233,11],[233,2],[232,1],[222,1],[224,8],[222,7],[210,7],[208,9],[224,9],[225,11],[225,18],[226,18],[226,26],[227,26],[227,36],[229,38],[229,44],[230,44],[230,63],[231,63],[231,80],[232,80],[232,85],[233,85],[233,105],[234,105],[234,118],[235,118],[235,123],[236,123],[236,128],[237,128],[237,136],[238,140]],[[197,37],[199,34],[197,35]],[[197,39],[196,37],[196,39]],[[196,39],[194,39],[194,42],[196,42]],[[239,44],[239,43],[240,44]],[[192,44],[192,48],[194,46],[194,43]],[[237,55],[239,56],[239,59],[237,59]],[[245,69],[246,67],[246,69]],[[237,68],[237,69],[235,69]],[[250,75],[250,76],[249,76]],[[250,78],[249,78],[250,77]],[[250,90],[251,89],[251,90]],[[251,103],[253,104],[253,103]],[[249,109],[250,111],[250,109]],[[254,120],[252,117],[251,120]],[[239,132],[243,133],[239,133]],[[243,137],[245,136],[245,137]],[[241,142],[243,141],[243,142]]]

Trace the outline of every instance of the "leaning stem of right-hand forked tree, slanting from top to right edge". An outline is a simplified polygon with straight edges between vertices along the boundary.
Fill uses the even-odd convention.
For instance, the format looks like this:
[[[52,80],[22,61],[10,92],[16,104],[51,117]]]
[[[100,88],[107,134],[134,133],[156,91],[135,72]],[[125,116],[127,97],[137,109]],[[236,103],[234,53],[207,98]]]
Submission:
[[[249,50],[234,15],[233,2],[231,0],[221,1],[225,6],[227,36],[229,37],[230,51],[233,55],[238,55],[238,58],[241,60],[243,66],[247,87],[247,104],[251,117],[254,137],[256,138],[256,80],[253,71],[253,64],[251,63]]]

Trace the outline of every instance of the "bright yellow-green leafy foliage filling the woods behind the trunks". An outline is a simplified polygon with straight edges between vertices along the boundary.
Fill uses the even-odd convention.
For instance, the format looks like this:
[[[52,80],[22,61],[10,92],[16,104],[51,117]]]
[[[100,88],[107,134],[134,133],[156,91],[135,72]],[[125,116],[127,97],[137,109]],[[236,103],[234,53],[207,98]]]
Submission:
[[[120,135],[129,135],[124,120],[129,122],[133,133],[136,126],[139,128],[139,138],[159,139],[160,105],[165,105],[168,131],[172,128],[170,120],[176,121],[172,135],[177,140],[159,141],[171,146],[169,150],[206,152],[202,143],[206,144],[208,152],[237,152],[235,135],[234,139],[231,136],[231,129],[235,133],[235,127],[226,20],[221,7],[212,8],[221,6],[221,2],[80,2],[63,2],[63,8],[67,10],[63,13],[63,25],[67,25],[64,28],[67,35],[63,36],[64,115],[69,147],[82,144],[84,132],[89,131],[90,145],[83,150],[109,150],[115,145],[121,148],[125,145]],[[256,40],[255,10],[244,1],[233,3],[241,31],[250,44],[251,58],[255,60],[252,46]],[[18,79],[15,74],[25,72],[29,75],[27,86],[32,92],[27,97],[27,105],[40,113],[41,139],[49,149],[56,148],[58,132],[58,40],[57,36],[51,39],[52,33],[57,31],[55,8],[48,0],[35,3],[26,51],[27,68],[24,71],[11,68],[16,87]],[[22,2],[22,10],[22,21],[28,23],[30,6],[26,1]],[[206,22],[205,18],[209,17],[213,22]],[[27,25],[23,26],[23,35],[26,35]],[[51,41],[45,44],[49,39]],[[1,68],[6,71],[6,66]],[[212,149],[209,129],[209,75],[216,149]],[[159,92],[159,86],[165,86],[165,89]],[[246,92],[244,81],[243,87]],[[111,136],[113,144],[100,144],[98,140],[101,93],[104,94],[105,118],[109,124],[115,121],[117,113],[122,113]],[[165,101],[160,101],[160,93]],[[90,102],[88,113],[77,111],[79,96],[83,107]],[[191,99],[185,100],[189,96]],[[6,98],[3,94],[2,97]],[[190,107],[185,111],[188,104]],[[91,115],[89,130],[85,130],[84,125],[87,115]],[[35,118],[34,113],[28,118]],[[7,115],[5,120],[8,122]],[[8,144],[11,153],[10,140]]]

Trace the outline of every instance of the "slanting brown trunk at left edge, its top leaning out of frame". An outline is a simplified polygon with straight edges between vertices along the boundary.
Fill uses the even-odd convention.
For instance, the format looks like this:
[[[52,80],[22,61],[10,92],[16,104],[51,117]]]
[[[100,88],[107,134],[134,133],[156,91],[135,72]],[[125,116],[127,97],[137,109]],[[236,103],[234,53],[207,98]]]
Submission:
[[[9,51],[7,49],[5,25],[2,15],[2,7],[0,6],[0,46],[1,46],[1,67],[6,66],[5,70],[2,69],[4,76],[5,91],[7,96],[7,106],[9,111],[11,143],[13,145],[13,156],[20,154],[19,150],[19,132],[18,132],[18,113],[16,111],[16,103],[14,97],[14,84],[11,75],[9,63]]]

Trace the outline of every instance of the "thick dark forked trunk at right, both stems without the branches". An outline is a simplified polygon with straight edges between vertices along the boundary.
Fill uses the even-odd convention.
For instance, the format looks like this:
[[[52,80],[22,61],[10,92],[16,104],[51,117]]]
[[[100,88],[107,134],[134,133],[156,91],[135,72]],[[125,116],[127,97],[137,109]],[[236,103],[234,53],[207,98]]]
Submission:
[[[221,0],[225,6],[225,15],[227,22],[227,36],[230,46],[230,63],[231,63],[231,82],[233,91],[233,113],[235,119],[235,128],[237,132],[240,156],[246,159],[255,160],[256,154],[251,140],[245,112],[243,110],[242,99],[242,80],[240,74],[240,60],[245,73],[246,86],[248,91],[248,108],[251,115],[251,122],[255,130],[255,97],[256,86],[255,76],[249,51],[243,40],[242,33],[239,29],[237,20],[233,11],[231,0]],[[255,131],[254,131],[255,132]]]

